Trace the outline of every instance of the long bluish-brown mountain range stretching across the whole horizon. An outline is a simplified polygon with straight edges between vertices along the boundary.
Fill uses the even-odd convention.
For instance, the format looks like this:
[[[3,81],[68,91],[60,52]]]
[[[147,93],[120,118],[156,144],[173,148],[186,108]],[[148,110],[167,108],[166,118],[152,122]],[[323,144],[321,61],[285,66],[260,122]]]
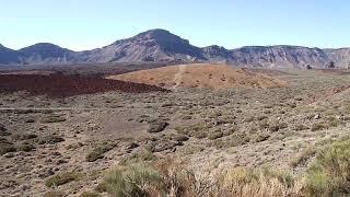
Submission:
[[[307,65],[324,68],[334,61],[337,67],[348,67],[350,48],[320,49],[289,45],[246,46],[231,50],[217,45],[200,48],[160,28],[84,51],[73,51],[49,43],[35,44],[20,50],[0,45],[0,63],[4,65],[147,61],[210,61],[264,68],[305,68]]]

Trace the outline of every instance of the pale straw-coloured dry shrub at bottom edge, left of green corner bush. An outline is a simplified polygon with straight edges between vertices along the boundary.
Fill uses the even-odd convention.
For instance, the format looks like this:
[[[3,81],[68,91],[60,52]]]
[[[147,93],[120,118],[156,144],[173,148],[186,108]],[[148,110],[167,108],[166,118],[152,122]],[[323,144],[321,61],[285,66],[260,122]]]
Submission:
[[[304,184],[290,175],[267,169],[236,167],[228,170],[218,182],[217,196],[283,197],[302,196]]]

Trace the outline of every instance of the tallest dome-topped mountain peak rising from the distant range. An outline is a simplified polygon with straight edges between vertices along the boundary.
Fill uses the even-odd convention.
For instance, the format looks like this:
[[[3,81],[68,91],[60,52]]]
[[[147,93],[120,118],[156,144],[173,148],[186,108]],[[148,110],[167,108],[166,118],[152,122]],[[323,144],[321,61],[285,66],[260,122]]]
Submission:
[[[164,30],[151,30],[101,49],[82,53],[84,61],[172,61],[206,60],[200,48]]]

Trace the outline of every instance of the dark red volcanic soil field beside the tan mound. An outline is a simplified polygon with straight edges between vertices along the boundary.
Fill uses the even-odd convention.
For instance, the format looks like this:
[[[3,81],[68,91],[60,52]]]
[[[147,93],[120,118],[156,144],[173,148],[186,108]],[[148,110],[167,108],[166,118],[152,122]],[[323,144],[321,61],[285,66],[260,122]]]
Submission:
[[[0,74],[0,92],[16,91],[27,91],[33,95],[47,94],[50,97],[94,94],[108,91],[129,93],[167,92],[167,90],[154,85],[100,78],[62,74]]]

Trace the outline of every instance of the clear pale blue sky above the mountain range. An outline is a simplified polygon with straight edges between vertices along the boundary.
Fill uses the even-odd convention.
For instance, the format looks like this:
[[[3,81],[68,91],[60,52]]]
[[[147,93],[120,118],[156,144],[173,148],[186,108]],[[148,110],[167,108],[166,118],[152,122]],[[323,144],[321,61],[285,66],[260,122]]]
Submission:
[[[150,28],[197,46],[350,46],[347,0],[0,0],[0,43],[92,49]]]

